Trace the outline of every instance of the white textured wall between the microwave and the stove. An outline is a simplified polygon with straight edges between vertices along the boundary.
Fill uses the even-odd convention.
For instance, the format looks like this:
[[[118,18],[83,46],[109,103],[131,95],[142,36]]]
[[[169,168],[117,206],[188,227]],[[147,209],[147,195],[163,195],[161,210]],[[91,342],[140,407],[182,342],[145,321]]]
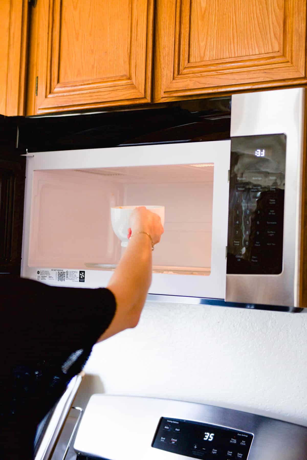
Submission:
[[[83,406],[95,392],[163,397],[307,426],[307,314],[147,303],[85,371]]]

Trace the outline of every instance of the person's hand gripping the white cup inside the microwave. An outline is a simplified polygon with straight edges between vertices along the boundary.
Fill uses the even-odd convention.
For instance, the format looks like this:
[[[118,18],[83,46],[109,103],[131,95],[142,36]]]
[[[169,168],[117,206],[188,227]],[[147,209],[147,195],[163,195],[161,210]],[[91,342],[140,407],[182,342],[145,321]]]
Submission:
[[[161,235],[164,232],[160,216],[152,213],[145,206],[136,207],[130,216],[130,226],[128,230],[128,239],[131,235],[144,231],[149,233],[154,244],[158,243]]]

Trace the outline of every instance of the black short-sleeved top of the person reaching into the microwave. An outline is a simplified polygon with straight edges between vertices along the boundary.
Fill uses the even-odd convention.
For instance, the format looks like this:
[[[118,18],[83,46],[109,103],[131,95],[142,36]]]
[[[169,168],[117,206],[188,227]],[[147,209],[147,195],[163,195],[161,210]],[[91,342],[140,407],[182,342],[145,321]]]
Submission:
[[[0,310],[0,458],[30,459],[37,425],[110,325],[116,301],[109,289],[0,276]]]

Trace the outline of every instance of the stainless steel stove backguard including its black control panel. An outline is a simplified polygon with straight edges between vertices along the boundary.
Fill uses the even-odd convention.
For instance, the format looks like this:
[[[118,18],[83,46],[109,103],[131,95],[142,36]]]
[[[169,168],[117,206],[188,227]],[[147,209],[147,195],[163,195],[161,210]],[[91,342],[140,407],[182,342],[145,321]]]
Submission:
[[[77,460],[306,460],[307,427],[168,399],[93,395],[74,442]]]

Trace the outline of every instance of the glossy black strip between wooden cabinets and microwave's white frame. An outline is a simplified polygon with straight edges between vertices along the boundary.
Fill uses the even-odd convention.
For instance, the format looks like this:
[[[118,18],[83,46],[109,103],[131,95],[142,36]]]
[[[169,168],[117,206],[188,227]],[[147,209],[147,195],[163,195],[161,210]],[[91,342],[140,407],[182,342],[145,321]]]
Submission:
[[[230,113],[224,97],[19,118],[18,142],[32,153],[230,139]]]

